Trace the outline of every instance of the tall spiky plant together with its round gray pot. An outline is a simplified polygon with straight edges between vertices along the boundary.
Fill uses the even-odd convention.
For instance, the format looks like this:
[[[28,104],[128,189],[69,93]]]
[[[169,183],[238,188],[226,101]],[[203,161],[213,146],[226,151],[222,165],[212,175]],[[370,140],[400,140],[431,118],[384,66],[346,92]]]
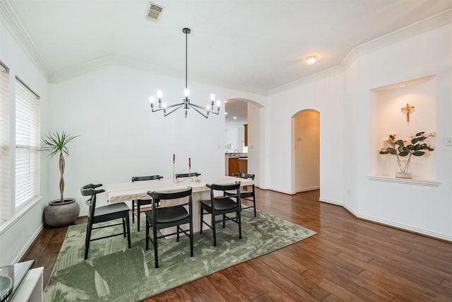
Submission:
[[[54,199],[44,209],[44,222],[48,226],[67,226],[75,221],[80,214],[80,206],[73,198],[64,198],[64,156],[69,155],[68,144],[78,135],[66,132],[48,133],[42,138],[41,151],[47,151],[47,157],[59,156],[59,192],[60,198]]]

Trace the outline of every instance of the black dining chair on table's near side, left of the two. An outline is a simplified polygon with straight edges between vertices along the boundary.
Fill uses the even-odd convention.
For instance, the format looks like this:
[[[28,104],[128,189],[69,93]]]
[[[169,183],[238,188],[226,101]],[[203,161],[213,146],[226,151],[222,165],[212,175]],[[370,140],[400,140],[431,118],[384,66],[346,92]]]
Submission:
[[[179,234],[184,233],[190,238],[190,257],[193,257],[193,212],[191,204],[191,187],[180,192],[150,192],[148,194],[152,197],[152,210],[145,211],[146,215],[146,250],[149,249],[149,240],[154,245],[155,268],[158,268],[158,252],[157,240],[167,236],[176,235],[176,240],[179,242]],[[165,205],[162,200],[181,199],[177,204]],[[183,200],[183,201],[182,201]],[[156,207],[156,204],[159,204]],[[188,207],[188,211],[186,209]],[[189,224],[189,229],[182,228],[183,224]],[[173,233],[165,233],[157,236],[157,231],[163,228],[176,227]],[[149,228],[153,228],[153,236],[150,237]]]

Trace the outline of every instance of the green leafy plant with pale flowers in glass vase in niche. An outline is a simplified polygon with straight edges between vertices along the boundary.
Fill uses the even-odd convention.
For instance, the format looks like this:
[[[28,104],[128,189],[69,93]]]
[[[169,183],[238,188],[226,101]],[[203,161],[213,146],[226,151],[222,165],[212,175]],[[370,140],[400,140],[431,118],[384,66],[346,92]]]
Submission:
[[[423,156],[427,151],[434,151],[434,148],[425,142],[429,137],[436,137],[436,134],[418,132],[411,136],[409,140],[396,139],[396,134],[389,134],[388,139],[386,139],[389,146],[381,148],[380,154],[393,154],[397,157],[396,178],[412,178],[410,171],[411,156]],[[404,160],[405,158],[406,160]]]

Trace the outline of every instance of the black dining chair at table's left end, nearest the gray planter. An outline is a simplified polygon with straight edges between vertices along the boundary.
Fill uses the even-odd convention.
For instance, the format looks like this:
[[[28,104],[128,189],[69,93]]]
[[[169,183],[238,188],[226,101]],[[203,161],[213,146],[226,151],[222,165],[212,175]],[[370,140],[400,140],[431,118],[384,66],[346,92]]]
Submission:
[[[88,214],[88,223],[86,225],[85,260],[88,259],[88,252],[90,250],[90,242],[91,241],[124,235],[124,237],[127,237],[127,243],[129,245],[129,248],[131,248],[129,207],[127,206],[127,204],[125,202],[118,202],[118,203],[109,204],[109,205],[103,206],[103,207],[96,207],[97,194],[105,192],[105,190],[103,190],[103,189],[95,190],[95,189],[97,189],[97,187],[101,187],[101,186],[102,186],[102,184],[93,185],[92,183],[90,183],[89,185],[84,185],[80,189],[82,196],[90,197],[85,202],[85,204],[87,204],[88,207],[90,207],[89,214]],[[117,219],[121,219],[121,222],[93,227],[93,225],[95,223],[114,221]],[[121,233],[114,233],[112,235],[98,237],[98,238],[94,238],[94,239],[91,238],[91,233],[93,232],[93,230],[96,230],[99,228],[107,228],[110,226],[120,226],[120,225],[122,225]]]

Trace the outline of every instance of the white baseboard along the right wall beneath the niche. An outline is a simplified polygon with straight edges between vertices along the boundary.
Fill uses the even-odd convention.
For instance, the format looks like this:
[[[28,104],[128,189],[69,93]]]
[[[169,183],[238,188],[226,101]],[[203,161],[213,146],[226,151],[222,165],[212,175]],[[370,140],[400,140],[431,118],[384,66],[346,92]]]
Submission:
[[[334,205],[339,206],[339,207],[343,207],[344,209],[349,211],[350,214],[355,216],[355,218],[357,218],[357,219],[362,219],[362,220],[369,221],[369,222],[372,222],[372,223],[379,223],[379,224],[381,224],[383,226],[389,226],[391,228],[397,228],[397,229],[402,230],[402,231],[408,231],[410,233],[415,233],[415,234],[419,234],[419,235],[422,235],[422,236],[427,236],[427,237],[430,237],[430,238],[434,238],[434,239],[438,239],[438,240],[444,240],[444,241],[452,243],[452,236],[448,236],[448,235],[443,234],[443,233],[436,233],[436,232],[432,232],[432,231],[429,231],[429,230],[425,230],[424,228],[416,228],[414,226],[408,226],[408,225],[403,224],[403,223],[397,223],[397,222],[394,222],[394,221],[388,221],[388,220],[385,220],[385,219],[379,219],[379,218],[374,217],[374,216],[362,215],[362,214],[359,214],[356,211],[350,209],[349,207],[347,207],[342,202],[335,202],[334,200],[331,200],[331,199],[319,198],[319,201],[320,202],[326,202],[328,204],[334,204]]]

